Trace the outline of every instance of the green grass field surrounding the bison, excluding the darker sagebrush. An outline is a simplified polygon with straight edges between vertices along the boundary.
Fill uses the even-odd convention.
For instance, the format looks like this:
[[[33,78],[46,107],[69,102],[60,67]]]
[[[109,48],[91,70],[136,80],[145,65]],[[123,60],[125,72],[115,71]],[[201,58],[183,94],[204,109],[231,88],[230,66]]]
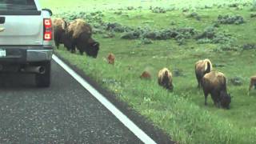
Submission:
[[[218,14],[239,14],[245,19],[241,25],[220,25],[218,32],[232,35],[232,46],[255,43],[256,18],[250,18],[250,4],[239,9],[229,7],[232,3],[250,1],[107,1],[41,0],[43,6],[53,10],[54,16],[63,12],[95,11],[103,9],[102,21],[118,22],[124,26],[148,26],[154,30],[166,28],[194,27],[198,31],[213,25]],[[142,6],[136,10],[124,10],[127,6]],[[152,13],[150,6],[174,7],[164,14]],[[219,8],[217,8],[219,6]],[[221,6],[221,7],[220,7]],[[210,8],[209,8],[210,7]],[[94,9],[95,8],[95,9]],[[182,10],[188,9],[188,12]],[[122,10],[122,14],[114,14]],[[201,17],[187,18],[194,10]],[[72,12],[73,13],[73,12]],[[174,25],[171,25],[174,23]],[[106,32],[104,31],[103,34]],[[94,78],[116,97],[127,102],[131,108],[149,118],[181,143],[255,143],[256,142],[256,92],[247,95],[250,76],[256,74],[256,49],[221,50],[222,44],[198,44],[193,38],[179,46],[174,39],[154,40],[143,45],[140,39],[127,40],[122,34],[114,33],[114,38],[102,38],[103,34],[94,34],[101,47],[98,58],[70,54],[64,47],[55,50],[75,66]],[[116,63],[110,66],[106,62],[108,53],[114,53]],[[228,91],[233,96],[230,110],[218,109],[210,96],[208,106],[204,106],[202,90],[198,90],[194,76],[194,63],[202,58],[222,67],[214,67],[226,74]],[[174,77],[174,92],[170,93],[158,86],[157,74],[162,67],[179,70],[182,76]],[[143,70],[150,70],[152,80],[139,78]],[[234,86],[230,78],[241,78],[242,85]]]

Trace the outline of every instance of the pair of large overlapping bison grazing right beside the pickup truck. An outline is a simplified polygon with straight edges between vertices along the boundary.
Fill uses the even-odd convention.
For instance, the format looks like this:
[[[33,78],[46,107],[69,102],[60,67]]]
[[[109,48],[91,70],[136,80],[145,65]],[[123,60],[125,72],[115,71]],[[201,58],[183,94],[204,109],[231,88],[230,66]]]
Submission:
[[[57,48],[59,44],[64,44],[66,49],[72,53],[77,48],[80,54],[86,52],[88,56],[97,58],[99,43],[91,38],[92,28],[88,23],[82,19],[67,23],[62,18],[55,18],[53,24],[54,42]]]

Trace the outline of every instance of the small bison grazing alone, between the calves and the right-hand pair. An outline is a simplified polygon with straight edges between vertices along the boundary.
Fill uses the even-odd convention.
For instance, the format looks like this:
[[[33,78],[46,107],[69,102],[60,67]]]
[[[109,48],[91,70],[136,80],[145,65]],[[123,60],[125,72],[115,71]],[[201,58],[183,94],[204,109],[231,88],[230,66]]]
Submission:
[[[158,72],[158,84],[160,86],[163,86],[167,90],[173,90],[174,86],[172,81],[172,74],[170,73],[170,70],[168,70],[167,68],[163,68]]]

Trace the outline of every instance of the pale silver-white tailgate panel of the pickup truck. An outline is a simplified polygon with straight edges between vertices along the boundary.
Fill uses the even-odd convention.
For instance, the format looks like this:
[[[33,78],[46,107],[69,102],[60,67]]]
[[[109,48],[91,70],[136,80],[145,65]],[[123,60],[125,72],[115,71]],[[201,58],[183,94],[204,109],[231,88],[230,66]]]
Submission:
[[[43,22],[41,15],[0,15],[0,45],[42,45]]]

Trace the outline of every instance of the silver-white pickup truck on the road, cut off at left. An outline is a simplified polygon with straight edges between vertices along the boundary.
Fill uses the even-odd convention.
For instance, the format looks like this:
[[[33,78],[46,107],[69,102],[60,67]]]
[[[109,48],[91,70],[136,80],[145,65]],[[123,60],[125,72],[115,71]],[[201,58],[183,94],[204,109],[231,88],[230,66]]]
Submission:
[[[51,14],[37,0],[0,0],[0,73],[32,73],[38,87],[50,86]]]

